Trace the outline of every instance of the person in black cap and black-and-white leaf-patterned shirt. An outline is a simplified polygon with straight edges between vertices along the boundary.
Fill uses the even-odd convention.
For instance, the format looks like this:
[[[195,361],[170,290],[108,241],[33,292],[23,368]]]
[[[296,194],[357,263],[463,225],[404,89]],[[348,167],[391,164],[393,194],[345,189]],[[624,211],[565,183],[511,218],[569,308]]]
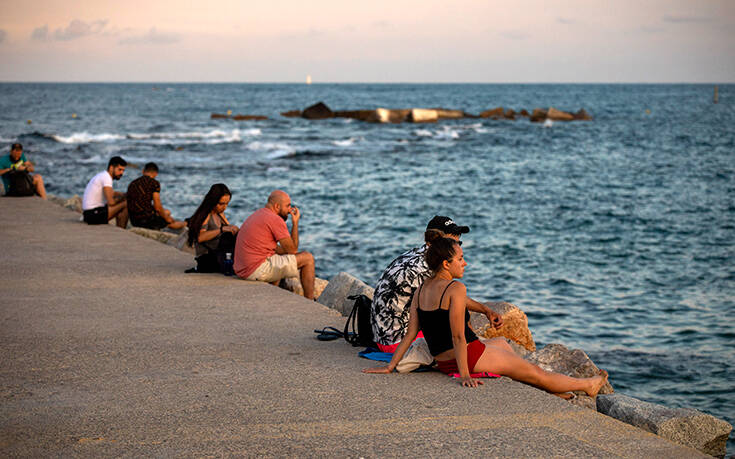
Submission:
[[[408,327],[408,305],[416,289],[431,276],[424,254],[431,241],[447,237],[456,239],[469,233],[467,226],[458,226],[449,217],[435,216],[426,226],[425,244],[401,254],[393,260],[375,285],[370,321],[373,337],[383,352],[395,351]],[[485,315],[494,327],[499,328],[503,320],[487,306],[467,298],[470,303],[485,310]],[[419,338],[423,336],[419,333]]]

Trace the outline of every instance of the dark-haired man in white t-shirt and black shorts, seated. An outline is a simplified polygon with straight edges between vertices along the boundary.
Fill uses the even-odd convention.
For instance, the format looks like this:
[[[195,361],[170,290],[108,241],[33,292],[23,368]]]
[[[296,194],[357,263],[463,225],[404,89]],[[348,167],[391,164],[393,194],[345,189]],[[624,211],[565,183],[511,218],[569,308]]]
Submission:
[[[104,225],[115,218],[117,226],[128,226],[128,210],[125,194],[112,189],[112,181],[120,180],[128,163],[119,156],[113,156],[107,163],[107,170],[92,177],[84,189],[82,214],[90,225]]]

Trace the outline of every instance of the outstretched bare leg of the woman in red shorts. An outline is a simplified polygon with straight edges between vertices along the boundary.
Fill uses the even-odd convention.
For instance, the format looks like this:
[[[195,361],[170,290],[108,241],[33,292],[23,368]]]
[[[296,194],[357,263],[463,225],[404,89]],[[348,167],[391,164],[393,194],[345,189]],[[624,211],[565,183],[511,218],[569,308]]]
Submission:
[[[590,397],[596,396],[607,381],[606,372],[601,372],[601,374],[592,378],[572,378],[571,376],[546,371],[518,357],[515,352],[501,349],[494,344],[485,347],[485,352],[475,364],[473,371],[478,373],[489,371],[490,373],[508,376],[552,394],[581,390]]]

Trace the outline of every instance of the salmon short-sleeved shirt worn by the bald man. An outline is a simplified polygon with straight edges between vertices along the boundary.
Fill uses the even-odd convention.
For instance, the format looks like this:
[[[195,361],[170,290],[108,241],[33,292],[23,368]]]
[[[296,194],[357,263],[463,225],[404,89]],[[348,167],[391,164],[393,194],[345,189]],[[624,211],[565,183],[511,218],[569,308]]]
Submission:
[[[291,233],[277,213],[267,207],[253,212],[240,227],[235,240],[237,277],[247,279],[266,258],[276,253],[278,241],[285,237],[291,237]]]

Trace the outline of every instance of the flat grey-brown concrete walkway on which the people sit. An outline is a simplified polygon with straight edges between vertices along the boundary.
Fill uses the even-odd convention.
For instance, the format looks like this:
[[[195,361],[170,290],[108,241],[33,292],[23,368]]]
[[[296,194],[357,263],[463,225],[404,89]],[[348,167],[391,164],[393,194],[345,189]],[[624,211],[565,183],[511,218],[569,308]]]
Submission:
[[[706,457],[507,378],[362,374],[334,311],[38,198],[0,198],[0,253],[3,456]]]

